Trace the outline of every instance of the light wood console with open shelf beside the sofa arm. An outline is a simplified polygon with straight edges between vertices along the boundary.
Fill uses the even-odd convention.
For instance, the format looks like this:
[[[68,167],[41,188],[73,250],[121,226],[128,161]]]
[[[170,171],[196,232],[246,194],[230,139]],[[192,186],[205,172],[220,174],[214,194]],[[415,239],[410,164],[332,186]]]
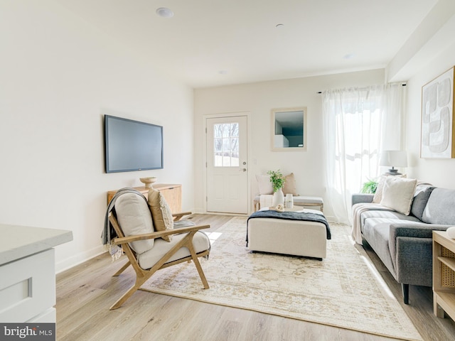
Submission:
[[[433,309],[455,320],[455,239],[445,231],[433,231]]]

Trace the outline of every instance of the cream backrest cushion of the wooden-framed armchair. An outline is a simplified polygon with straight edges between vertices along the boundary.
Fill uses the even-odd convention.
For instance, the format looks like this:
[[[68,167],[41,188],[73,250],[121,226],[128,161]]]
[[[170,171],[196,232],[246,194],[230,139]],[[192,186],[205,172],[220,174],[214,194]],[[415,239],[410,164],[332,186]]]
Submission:
[[[124,193],[115,202],[117,220],[125,237],[154,232],[149,205],[143,196],[135,193]],[[129,246],[142,254],[154,247],[154,239],[138,240]]]

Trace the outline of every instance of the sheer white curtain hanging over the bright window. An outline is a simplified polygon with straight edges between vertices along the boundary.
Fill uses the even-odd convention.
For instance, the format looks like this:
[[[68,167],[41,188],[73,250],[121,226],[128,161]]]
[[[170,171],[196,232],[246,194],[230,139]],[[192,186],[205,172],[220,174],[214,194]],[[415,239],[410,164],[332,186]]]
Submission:
[[[402,86],[328,90],[322,99],[329,205],[350,224],[351,195],[378,178],[380,151],[400,149]]]

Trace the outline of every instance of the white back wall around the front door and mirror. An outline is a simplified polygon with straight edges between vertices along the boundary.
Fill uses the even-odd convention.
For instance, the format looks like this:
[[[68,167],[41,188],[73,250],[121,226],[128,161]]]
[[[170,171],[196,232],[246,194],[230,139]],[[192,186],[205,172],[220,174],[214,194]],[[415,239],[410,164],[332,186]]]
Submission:
[[[326,197],[323,151],[322,101],[319,91],[343,87],[383,84],[384,70],[351,72],[339,75],[258,82],[245,85],[195,90],[196,120],[196,188],[205,188],[204,116],[229,112],[250,113],[249,167],[250,205],[257,194],[256,174],[280,169],[284,175],[293,172],[301,195]],[[271,110],[274,108],[307,107],[307,151],[271,151]],[[203,191],[196,193],[196,210],[205,209]],[[329,207],[327,205],[327,207]],[[326,215],[331,212],[324,210]]]

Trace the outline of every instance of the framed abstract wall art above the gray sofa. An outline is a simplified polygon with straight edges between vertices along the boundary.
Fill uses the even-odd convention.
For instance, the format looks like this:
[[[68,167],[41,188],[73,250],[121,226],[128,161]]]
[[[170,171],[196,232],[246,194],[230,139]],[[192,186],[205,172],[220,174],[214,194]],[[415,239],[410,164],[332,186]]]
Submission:
[[[454,67],[422,87],[421,158],[455,158]]]

